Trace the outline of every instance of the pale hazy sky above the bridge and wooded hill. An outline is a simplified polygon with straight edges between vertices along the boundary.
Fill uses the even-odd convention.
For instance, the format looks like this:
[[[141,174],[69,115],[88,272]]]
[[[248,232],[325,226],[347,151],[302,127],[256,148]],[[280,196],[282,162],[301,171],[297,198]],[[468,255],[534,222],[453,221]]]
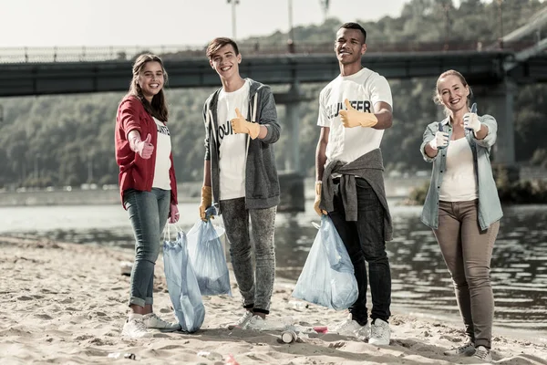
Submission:
[[[409,0],[330,0],[341,22],[399,16]],[[239,0],[236,39],[289,29],[290,0]],[[292,0],[293,25],[323,23],[320,0]],[[228,0],[0,0],[0,47],[202,46],[232,35]]]

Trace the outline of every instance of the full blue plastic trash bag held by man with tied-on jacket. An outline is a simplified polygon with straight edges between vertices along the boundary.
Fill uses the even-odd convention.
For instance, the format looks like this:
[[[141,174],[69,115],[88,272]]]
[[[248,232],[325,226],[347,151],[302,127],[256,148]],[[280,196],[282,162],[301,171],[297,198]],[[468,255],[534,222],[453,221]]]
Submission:
[[[336,310],[351,307],[357,300],[358,288],[354,266],[346,246],[327,215],[315,236],[293,297]]]

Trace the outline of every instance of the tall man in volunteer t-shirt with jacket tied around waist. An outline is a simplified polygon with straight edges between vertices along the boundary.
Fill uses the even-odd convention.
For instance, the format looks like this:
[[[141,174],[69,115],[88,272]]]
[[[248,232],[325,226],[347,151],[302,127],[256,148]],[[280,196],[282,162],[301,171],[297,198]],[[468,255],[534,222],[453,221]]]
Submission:
[[[335,40],[340,75],[319,97],[314,208],[332,219],[355,267],[359,296],[337,331],[388,345],[391,274],[386,241],[392,227],[379,147],[392,124],[392,98],[386,78],[361,65],[365,52],[365,29],[356,23],[341,26]],[[373,303],[370,330],[367,280]]]

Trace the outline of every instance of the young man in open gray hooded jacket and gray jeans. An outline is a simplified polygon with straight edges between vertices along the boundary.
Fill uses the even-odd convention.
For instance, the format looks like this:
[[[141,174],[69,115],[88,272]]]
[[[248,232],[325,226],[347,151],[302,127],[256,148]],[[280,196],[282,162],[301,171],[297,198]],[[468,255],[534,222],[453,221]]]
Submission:
[[[213,92],[203,107],[205,163],[200,216],[206,221],[205,210],[212,204],[222,214],[245,309],[232,327],[261,328],[270,313],[274,289],[274,223],[279,204],[274,142],[279,140],[281,127],[272,90],[240,76],[242,55],[232,39],[213,39],[207,57],[222,88]]]

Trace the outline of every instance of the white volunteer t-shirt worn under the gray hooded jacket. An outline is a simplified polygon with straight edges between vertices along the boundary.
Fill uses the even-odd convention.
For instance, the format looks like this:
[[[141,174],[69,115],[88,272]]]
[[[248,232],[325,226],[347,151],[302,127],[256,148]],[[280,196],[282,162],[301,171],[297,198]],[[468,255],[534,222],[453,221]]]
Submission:
[[[235,134],[230,120],[236,117],[235,108],[239,108],[243,117],[249,111],[249,90],[251,82],[245,80],[243,87],[232,92],[219,93],[217,103],[217,141],[220,147],[221,200],[245,196],[245,133]]]

